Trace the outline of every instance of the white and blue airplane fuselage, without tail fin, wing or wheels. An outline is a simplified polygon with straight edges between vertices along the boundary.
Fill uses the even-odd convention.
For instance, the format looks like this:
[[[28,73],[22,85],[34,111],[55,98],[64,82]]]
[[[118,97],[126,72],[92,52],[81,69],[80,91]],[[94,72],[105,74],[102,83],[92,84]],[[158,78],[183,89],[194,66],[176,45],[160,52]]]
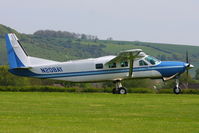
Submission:
[[[135,59],[133,74],[129,77],[129,61],[106,64],[116,56],[104,56],[84,60],[59,62],[51,65],[35,65],[29,69],[11,69],[10,72],[20,76],[50,78],[71,82],[100,82],[129,78],[163,78],[181,74],[187,63],[177,61],[159,61],[146,55]]]

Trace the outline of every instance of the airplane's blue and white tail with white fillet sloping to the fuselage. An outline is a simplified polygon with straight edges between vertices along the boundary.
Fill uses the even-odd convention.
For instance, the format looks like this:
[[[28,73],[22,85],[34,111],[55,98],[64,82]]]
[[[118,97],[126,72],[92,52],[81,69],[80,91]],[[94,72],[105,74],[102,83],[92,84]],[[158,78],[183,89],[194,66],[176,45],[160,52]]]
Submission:
[[[28,56],[14,33],[6,35],[6,47],[10,69],[30,68],[59,63],[57,61]]]

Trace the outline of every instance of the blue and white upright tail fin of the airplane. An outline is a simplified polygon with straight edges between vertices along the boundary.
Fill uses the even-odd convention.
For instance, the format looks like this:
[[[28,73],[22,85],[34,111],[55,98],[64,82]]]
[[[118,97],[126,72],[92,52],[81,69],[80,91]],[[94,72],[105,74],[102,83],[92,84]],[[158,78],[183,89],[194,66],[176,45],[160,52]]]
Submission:
[[[6,35],[6,47],[10,69],[28,67],[28,55],[14,33]]]

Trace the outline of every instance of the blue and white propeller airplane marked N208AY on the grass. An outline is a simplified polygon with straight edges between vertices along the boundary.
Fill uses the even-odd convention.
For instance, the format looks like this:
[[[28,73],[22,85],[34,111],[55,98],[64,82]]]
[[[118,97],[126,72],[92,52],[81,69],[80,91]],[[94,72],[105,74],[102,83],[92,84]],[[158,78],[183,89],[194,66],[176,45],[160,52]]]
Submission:
[[[175,94],[181,92],[179,76],[193,68],[188,62],[160,61],[147,55],[142,49],[121,51],[118,55],[103,56],[66,62],[32,57],[22,47],[14,33],[6,34],[9,72],[18,76],[48,78],[70,82],[115,83],[113,94],[126,94],[122,80],[128,79],[175,79]]]

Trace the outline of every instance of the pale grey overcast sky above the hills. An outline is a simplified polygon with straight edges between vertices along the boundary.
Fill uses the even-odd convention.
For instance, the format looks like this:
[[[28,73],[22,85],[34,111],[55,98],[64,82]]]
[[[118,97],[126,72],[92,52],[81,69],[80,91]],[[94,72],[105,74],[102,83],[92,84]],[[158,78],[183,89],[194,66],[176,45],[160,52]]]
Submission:
[[[0,0],[0,23],[199,46],[199,0]]]

